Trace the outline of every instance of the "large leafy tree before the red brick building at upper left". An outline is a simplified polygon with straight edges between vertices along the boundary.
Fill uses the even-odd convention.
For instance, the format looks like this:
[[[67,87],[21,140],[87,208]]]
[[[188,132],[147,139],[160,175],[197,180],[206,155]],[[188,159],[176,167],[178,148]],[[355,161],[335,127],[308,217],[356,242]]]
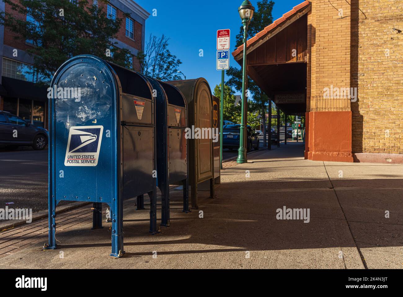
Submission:
[[[93,54],[123,67],[131,67],[130,52],[114,46],[122,20],[87,0],[2,0],[15,13],[0,13],[0,24],[17,33],[16,39],[32,44],[34,74],[48,82],[58,67],[72,56]],[[77,3],[78,2],[78,3]],[[99,0],[98,2],[108,2]],[[109,54],[110,53],[110,54]]]

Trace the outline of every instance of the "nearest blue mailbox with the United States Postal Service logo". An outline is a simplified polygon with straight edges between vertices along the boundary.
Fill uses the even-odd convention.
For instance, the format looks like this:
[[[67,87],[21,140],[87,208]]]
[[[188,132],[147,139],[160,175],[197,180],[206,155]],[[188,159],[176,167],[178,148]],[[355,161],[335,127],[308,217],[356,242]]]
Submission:
[[[56,71],[49,94],[49,243],[56,249],[56,205],[93,203],[93,228],[110,207],[111,256],[123,249],[123,199],[150,196],[156,228],[156,139],[152,86],[139,73],[80,55]]]

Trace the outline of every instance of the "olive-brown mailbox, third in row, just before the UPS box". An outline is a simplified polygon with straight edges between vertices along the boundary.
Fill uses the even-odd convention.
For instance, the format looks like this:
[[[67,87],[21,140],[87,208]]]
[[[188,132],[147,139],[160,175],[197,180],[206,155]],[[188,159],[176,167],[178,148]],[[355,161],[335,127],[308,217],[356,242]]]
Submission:
[[[204,78],[168,82],[185,96],[189,128],[210,128],[213,125],[213,101],[210,86]],[[210,197],[214,192],[214,155],[211,138],[189,139],[189,178],[192,208],[197,209],[197,184],[210,180]]]

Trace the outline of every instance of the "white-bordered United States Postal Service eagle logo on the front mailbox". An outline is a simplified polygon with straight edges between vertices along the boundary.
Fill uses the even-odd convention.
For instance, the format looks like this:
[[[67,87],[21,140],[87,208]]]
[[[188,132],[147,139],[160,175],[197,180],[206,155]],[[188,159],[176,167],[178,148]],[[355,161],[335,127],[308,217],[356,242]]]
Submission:
[[[96,166],[98,164],[103,130],[103,126],[71,127],[64,165]]]

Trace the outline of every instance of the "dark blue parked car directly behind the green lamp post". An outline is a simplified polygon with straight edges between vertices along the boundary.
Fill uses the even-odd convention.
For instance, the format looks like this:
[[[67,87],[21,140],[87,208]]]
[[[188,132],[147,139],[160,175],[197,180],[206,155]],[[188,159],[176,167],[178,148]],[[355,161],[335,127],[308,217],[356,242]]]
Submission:
[[[229,148],[230,151],[239,148],[239,128],[241,125],[225,125],[222,127],[222,148]],[[250,152],[252,148],[255,151],[259,149],[259,138],[251,126],[247,126],[247,152]]]

